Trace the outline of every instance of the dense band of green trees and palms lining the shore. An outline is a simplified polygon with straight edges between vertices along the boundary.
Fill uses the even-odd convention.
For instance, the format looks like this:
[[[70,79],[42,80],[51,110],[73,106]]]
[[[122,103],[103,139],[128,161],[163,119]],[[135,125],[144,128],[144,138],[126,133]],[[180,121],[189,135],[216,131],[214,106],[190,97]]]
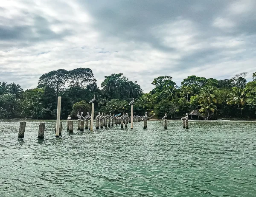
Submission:
[[[198,110],[207,118],[256,118],[256,73],[246,81],[247,73],[232,79],[188,76],[178,87],[171,76],[154,79],[154,89],[143,93],[137,82],[122,73],[105,76],[101,89],[89,68],[53,70],[39,78],[38,86],[25,90],[19,84],[0,82],[0,118],[52,119],[56,116],[57,97],[61,96],[61,118],[84,116],[90,112],[90,99],[96,95],[95,114],[129,113],[135,98],[134,113],[180,118]]]

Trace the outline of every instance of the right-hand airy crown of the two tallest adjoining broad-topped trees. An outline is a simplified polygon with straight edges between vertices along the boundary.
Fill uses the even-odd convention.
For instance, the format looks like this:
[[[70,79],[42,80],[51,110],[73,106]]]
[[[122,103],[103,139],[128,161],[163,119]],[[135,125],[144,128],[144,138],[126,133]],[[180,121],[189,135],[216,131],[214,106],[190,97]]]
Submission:
[[[88,84],[96,83],[90,68],[77,68],[68,71],[68,80],[70,87],[85,87]]]

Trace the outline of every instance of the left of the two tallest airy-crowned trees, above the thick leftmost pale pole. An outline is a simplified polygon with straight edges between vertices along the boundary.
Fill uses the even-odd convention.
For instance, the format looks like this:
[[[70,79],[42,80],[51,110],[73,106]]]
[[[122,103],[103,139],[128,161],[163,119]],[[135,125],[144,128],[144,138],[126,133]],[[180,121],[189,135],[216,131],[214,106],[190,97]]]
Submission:
[[[53,70],[49,73],[43,74],[39,78],[38,87],[50,87],[54,90],[57,97],[58,93],[63,90],[68,79],[68,71],[65,69]]]

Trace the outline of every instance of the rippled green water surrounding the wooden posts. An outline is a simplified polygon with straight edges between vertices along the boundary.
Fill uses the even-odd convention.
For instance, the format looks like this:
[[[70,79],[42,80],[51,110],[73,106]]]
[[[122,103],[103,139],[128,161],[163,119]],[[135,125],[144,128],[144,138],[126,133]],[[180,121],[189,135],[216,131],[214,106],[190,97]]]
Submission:
[[[46,121],[0,121],[0,197],[256,196],[256,122],[149,121],[55,138]],[[76,124],[74,124],[76,127]]]

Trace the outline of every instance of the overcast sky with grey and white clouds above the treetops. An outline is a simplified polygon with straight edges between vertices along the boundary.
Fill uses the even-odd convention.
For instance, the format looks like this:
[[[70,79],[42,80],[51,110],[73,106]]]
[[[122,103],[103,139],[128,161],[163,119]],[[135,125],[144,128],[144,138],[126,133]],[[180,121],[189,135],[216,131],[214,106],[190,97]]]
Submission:
[[[256,72],[256,0],[5,0],[0,81],[37,86],[51,70],[123,73],[145,92],[157,76]]]

